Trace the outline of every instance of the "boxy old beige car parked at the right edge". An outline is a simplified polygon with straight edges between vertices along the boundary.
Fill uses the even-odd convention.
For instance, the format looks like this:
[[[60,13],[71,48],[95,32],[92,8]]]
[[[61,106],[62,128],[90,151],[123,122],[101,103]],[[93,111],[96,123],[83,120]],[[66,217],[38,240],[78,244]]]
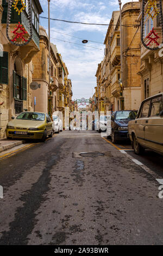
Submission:
[[[135,154],[151,149],[163,155],[163,93],[143,100],[135,120],[128,123]]]

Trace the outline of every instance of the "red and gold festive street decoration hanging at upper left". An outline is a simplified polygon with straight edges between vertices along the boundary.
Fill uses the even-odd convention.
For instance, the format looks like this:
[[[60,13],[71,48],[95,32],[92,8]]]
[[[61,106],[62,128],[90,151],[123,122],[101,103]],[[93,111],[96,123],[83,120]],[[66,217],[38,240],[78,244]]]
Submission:
[[[20,25],[20,22],[18,22],[18,25],[16,25],[17,28],[14,28],[15,30],[11,31],[11,33],[15,34],[15,38],[10,39],[9,24],[10,24],[10,20],[11,20],[12,7],[14,7],[14,10],[18,13],[18,15],[20,15],[22,13],[22,11],[24,10],[24,8],[26,7],[24,0],[21,0],[22,7],[21,7],[21,9],[18,9],[18,7],[17,7],[18,1],[20,1],[20,0],[15,0],[15,1],[8,0],[8,15],[7,15],[6,34],[7,34],[8,40],[11,42],[11,44],[17,45],[17,46],[23,46],[23,45],[27,45],[32,39],[32,10],[31,10],[31,2],[30,2],[30,0],[27,0],[28,1],[28,21],[29,21],[29,38],[28,38],[28,40],[25,39],[23,36],[23,35],[27,34],[27,31],[25,31],[25,29],[22,27],[22,25]],[[17,32],[18,29],[20,29],[21,32]],[[19,42],[20,40],[21,40],[21,42]]]

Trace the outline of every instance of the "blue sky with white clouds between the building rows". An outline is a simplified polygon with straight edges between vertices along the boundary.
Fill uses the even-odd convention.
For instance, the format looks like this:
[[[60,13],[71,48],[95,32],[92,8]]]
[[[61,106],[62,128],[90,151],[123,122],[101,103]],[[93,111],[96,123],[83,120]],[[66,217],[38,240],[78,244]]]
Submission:
[[[126,2],[129,1],[124,0],[122,4]],[[41,16],[48,17],[47,0],[40,0],[40,3],[43,9]],[[119,9],[118,0],[51,0],[50,6],[50,15],[54,19],[105,24],[109,24],[112,11]],[[48,20],[40,18],[40,25],[48,28]],[[58,52],[66,63],[69,78],[72,80],[72,99],[81,99],[82,97],[89,99],[92,92],[94,93],[97,66],[104,58],[103,42],[107,29],[108,26],[51,21],[51,42],[57,45]],[[97,41],[101,44],[91,41],[82,44],[81,39],[58,32]]]

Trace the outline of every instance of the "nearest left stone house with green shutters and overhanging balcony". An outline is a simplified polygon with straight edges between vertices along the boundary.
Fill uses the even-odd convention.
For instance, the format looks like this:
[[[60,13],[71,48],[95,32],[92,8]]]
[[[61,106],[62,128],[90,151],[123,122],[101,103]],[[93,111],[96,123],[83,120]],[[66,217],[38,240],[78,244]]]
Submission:
[[[39,0],[33,0],[32,15],[36,19],[33,19],[32,40],[28,45],[16,46],[10,44],[6,36],[7,8],[8,2],[0,1],[0,102],[4,101],[0,111],[0,138],[5,137],[5,127],[12,115],[33,110],[32,91],[30,90],[33,74],[32,58],[40,50],[39,15],[42,13]],[[23,10],[19,16],[15,14],[12,17],[9,28],[10,36],[12,36],[11,30],[18,22],[28,32],[28,8]]]

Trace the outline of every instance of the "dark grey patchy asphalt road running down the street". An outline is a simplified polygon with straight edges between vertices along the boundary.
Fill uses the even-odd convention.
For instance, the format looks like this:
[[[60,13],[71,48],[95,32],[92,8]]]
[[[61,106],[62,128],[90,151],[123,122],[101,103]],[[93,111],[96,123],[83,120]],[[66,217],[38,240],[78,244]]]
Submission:
[[[0,245],[162,245],[162,156],[141,166],[109,142],[64,131],[1,155]],[[79,155],[91,151],[104,156]]]

